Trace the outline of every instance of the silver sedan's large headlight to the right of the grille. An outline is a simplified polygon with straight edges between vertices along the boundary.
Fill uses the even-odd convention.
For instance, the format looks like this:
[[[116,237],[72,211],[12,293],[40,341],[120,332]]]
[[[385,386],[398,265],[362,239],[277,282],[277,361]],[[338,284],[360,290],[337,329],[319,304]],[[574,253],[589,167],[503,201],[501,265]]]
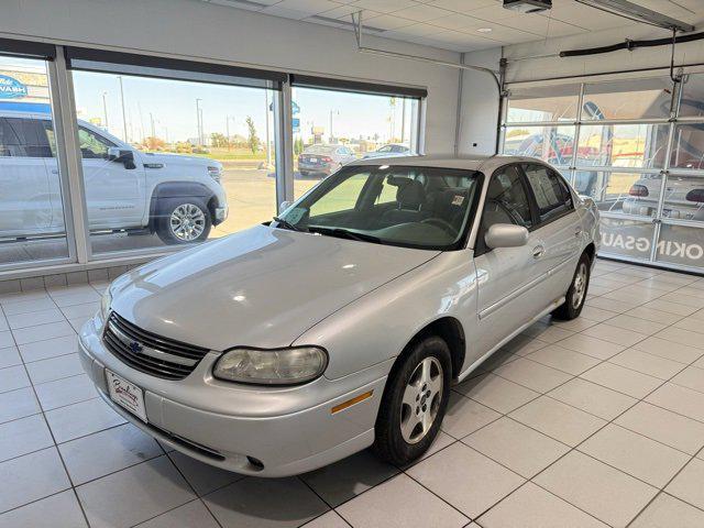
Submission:
[[[233,349],[218,360],[212,375],[228,382],[294,385],[315,380],[326,366],[328,354],[318,346]]]

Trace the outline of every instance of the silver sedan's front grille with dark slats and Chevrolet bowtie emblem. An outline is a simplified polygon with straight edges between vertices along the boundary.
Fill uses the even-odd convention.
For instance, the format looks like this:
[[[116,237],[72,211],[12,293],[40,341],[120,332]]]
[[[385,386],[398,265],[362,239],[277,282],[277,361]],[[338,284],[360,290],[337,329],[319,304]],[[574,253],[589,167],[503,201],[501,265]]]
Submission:
[[[165,380],[183,380],[208,353],[202,346],[142,330],[116,312],[108,318],[102,341],[112,354],[132,369]]]

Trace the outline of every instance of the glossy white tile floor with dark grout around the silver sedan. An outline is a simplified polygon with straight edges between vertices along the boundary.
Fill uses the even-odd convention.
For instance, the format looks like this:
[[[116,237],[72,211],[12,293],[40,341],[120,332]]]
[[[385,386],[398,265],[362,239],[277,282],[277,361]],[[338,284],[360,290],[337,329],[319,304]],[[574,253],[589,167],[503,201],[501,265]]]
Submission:
[[[97,399],[75,329],[105,284],[0,296],[0,527],[702,527],[704,278],[600,261],[582,317],[454,387],[431,453],[260,480]]]

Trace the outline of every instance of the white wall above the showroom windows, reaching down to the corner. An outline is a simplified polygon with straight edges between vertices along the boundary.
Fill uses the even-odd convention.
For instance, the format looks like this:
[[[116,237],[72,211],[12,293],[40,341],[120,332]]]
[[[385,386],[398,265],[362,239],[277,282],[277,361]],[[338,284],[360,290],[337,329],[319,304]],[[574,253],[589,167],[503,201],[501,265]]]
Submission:
[[[363,55],[354,34],[196,0],[0,0],[0,36],[156,52],[428,88],[426,152],[454,144],[458,72]],[[444,61],[459,54],[365,36],[365,45]]]

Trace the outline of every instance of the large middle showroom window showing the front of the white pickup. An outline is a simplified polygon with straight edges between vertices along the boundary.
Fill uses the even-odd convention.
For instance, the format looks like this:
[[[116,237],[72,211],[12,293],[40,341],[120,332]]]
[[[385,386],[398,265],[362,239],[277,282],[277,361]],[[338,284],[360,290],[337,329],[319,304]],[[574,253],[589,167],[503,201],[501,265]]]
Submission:
[[[68,56],[94,256],[199,243],[276,215],[277,75]]]

